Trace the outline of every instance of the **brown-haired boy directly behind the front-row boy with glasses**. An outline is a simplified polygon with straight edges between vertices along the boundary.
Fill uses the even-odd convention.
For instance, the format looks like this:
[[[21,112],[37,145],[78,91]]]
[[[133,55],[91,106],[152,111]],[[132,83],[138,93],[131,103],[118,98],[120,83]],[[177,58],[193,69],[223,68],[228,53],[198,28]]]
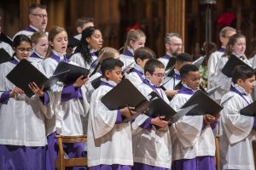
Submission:
[[[143,83],[144,77],[144,65],[148,61],[148,59],[154,59],[155,54],[154,51],[152,51],[150,48],[142,47],[137,48],[134,52],[134,59],[136,64],[134,65],[134,68],[131,70],[131,72],[126,76],[130,82],[135,87],[138,87],[138,85]]]

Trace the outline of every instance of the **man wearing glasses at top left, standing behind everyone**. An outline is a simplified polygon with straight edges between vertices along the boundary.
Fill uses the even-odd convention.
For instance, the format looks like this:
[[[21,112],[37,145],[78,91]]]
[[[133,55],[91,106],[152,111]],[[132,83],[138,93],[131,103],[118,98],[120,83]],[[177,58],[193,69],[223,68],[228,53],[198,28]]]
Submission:
[[[35,31],[45,31],[48,21],[46,6],[42,4],[32,4],[28,9],[28,18],[30,25],[26,30],[19,31],[13,39],[20,34],[31,37]]]

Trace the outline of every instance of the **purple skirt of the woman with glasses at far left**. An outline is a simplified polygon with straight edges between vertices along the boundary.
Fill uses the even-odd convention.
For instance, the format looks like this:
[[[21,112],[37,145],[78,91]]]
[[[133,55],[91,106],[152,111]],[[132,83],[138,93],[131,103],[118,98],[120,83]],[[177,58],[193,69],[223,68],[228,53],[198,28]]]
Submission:
[[[0,169],[44,170],[45,147],[0,144]]]

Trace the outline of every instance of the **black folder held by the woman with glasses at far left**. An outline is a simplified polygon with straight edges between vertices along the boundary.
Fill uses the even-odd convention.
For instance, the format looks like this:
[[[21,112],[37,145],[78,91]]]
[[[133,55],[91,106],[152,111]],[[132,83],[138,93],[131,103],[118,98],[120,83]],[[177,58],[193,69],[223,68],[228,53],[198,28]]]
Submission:
[[[49,89],[50,86],[55,84],[55,82],[58,82],[63,76],[64,73],[62,72],[58,75],[47,78],[29,61],[22,59],[6,77],[10,82],[15,84],[16,87],[21,88],[25,92],[26,96],[30,98],[34,95],[32,90],[28,87],[30,82],[35,82],[39,88],[44,86],[44,89]]]

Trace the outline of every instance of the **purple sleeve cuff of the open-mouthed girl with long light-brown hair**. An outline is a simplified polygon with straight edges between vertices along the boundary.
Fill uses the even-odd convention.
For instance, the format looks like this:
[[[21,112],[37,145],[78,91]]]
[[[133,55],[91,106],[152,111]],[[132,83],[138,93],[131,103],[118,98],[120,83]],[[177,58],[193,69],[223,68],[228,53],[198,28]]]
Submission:
[[[75,89],[72,85],[69,85],[67,87],[64,87],[61,93],[61,101],[68,101],[70,99],[74,98],[81,98],[81,89]]]

